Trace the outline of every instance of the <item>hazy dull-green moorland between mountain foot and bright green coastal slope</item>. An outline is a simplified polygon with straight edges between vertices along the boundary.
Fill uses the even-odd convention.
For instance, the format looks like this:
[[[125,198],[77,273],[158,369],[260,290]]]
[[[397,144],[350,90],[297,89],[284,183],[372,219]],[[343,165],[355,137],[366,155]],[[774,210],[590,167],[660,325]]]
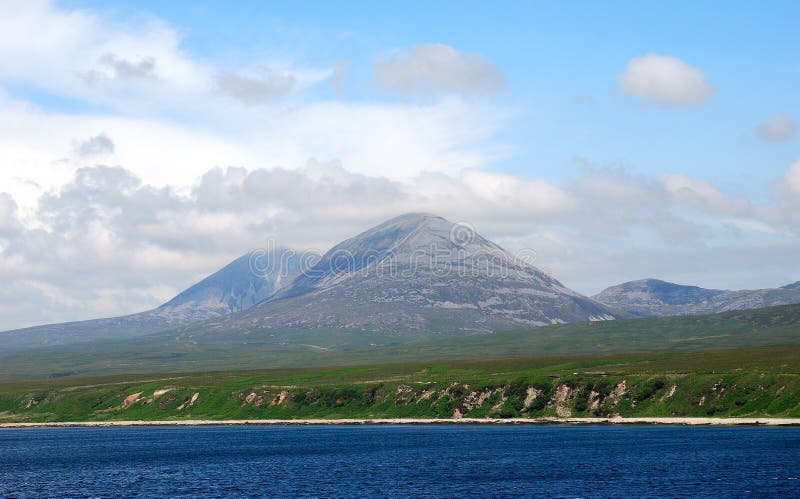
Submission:
[[[137,340],[0,352],[0,380],[769,345],[800,345],[800,305],[459,337],[335,329],[209,330],[193,336],[166,332]]]

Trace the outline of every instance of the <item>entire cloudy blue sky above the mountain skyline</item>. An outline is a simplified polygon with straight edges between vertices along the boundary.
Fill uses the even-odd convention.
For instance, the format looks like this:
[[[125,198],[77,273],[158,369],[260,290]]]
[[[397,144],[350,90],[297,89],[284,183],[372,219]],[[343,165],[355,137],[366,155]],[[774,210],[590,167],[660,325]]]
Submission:
[[[0,330],[472,224],[594,294],[800,280],[800,4],[0,4]]]

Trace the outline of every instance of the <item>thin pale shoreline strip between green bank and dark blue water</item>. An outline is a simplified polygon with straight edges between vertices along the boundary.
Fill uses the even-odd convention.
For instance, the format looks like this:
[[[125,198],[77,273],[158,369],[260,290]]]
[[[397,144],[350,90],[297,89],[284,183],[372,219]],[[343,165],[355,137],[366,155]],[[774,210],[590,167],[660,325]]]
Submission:
[[[675,426],[800,426],[800,418],[509,418],[509,419],[186,419],[160,421],[62,421],[0,423],[2,428],[75,428],[114,426],[309,426],[309,425],[675,425]]]

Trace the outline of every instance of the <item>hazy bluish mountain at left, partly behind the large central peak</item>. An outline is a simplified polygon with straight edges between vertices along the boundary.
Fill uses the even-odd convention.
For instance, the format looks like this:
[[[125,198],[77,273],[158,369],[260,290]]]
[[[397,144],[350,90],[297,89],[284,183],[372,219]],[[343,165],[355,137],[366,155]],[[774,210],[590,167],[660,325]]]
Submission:
[[[2,332],[0,351],[134,338],[246,310],[299,274],[298,262],[284,248],[247,253],[155,309]]]

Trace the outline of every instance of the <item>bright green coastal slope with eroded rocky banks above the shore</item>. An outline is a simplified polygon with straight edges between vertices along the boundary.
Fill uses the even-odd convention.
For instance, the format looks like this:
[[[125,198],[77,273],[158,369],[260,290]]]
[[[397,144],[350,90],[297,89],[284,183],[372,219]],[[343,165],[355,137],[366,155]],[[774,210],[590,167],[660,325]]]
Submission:
[[[800,347],[0,384],[0,422],[556,415],[800,417]]]

